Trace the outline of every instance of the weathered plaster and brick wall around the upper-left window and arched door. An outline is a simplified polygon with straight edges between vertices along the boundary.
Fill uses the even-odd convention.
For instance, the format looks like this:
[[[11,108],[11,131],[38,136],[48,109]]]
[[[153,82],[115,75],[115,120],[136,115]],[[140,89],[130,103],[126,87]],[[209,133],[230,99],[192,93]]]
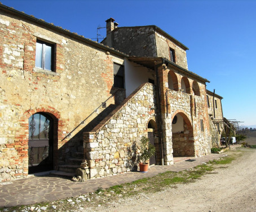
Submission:
[[[65,148],[75,145],[71,144],[74,136],[104,108],[69,138],[65,136],[111,96],[113,62],[123,64],[123,57],[68,31],[49,29],[40,21],[2,9],[0,13],[1,182],[28,175],[28,119],[38,112],[55,120],[54,167],[58,169],[58,157],[63,159]],[[35,67],[37,39],[54,45],[53,72]],[[113,98],[107,107],[110,104]]]

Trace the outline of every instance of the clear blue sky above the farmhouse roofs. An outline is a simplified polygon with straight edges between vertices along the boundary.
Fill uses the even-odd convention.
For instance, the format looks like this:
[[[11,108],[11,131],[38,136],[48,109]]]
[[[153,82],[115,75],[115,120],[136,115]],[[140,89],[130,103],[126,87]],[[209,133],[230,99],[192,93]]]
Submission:
[[[223,96],[224,117],[256,125],[256,1],[2,0],[86,38],[113,17],[119,26],[157,25],[186,45],[188,69]],[[105,36],[105,29],[100,30]]]

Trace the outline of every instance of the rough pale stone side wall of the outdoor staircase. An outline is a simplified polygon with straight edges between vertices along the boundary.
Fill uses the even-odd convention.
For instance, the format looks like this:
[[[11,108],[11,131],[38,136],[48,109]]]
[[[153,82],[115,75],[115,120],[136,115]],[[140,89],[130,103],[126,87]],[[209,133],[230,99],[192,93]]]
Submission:
[[[152,84],[140,86],[99,126],[84,132],[90,178],[131,171],[138,164],[139,141],[156,118],[155,95]]]

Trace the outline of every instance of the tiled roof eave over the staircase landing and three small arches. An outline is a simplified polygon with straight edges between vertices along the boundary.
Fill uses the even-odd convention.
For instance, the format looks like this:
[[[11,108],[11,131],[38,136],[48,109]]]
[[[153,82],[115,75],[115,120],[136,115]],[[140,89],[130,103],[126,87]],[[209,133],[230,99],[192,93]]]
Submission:
[[[182,71],[183,73],[188,74],[189,76],[195,77],[197,78],[197,80],[203,81],[203,82],[210,82],[208,81],[206,78],[203,78],[187,69],[184,69],[182,67],[180,67],[179,65],[171,62],[170,60],[167,60],[166,58],[139,58],[136,56],[129,56],[128,58],[130,61],[133,61],[134,63],[137,63],[139,65],[142,65],[144,67],[150,68],[152,70],[155,70],[155,65],[156,63],[159,63],[161,61],[161,63],[167,63],[168,65],[170,65],[171,67],[174,67],[180,71]]]

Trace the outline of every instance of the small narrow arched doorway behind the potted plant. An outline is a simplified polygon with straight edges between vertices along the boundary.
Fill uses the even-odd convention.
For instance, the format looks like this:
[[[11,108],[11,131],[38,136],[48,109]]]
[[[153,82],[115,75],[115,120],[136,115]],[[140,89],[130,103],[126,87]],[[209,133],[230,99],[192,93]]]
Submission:
[[[158,165],[161,162],[160,142],[158,138],[157,125],[154,120],[150,120],[148,122],[148,139],[150,143],[156,148],[155,155],[149,158],[149,165]]]

